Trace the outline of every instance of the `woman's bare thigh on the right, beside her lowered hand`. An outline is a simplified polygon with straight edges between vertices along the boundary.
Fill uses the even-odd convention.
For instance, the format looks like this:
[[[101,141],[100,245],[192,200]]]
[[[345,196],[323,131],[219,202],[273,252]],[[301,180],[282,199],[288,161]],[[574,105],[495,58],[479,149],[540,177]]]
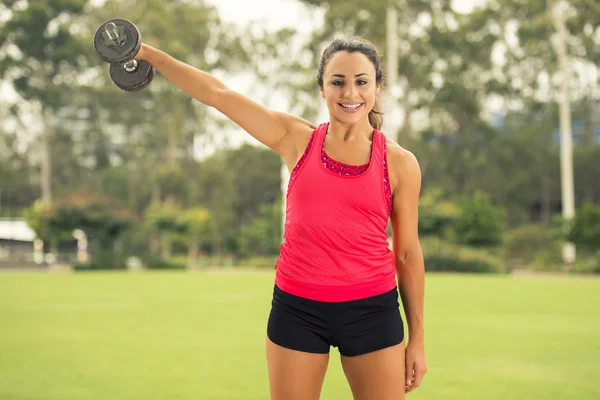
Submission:
[[[404,342],[355,357],[341,356],[355,400],[403,400]]]

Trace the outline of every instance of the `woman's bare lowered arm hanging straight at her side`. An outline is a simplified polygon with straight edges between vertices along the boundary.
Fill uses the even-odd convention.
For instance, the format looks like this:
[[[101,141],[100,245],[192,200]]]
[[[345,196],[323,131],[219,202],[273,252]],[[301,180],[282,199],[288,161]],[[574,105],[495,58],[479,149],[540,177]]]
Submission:
[[[394,259],[408,324],[405,382],[408,393],[421,385],[427,371],[423,328],[425,266],[418,230],[421,170],[415,156],[407,150],[394,146],[388,156],[395,181],[392,181],[395,189],[391,217]]]

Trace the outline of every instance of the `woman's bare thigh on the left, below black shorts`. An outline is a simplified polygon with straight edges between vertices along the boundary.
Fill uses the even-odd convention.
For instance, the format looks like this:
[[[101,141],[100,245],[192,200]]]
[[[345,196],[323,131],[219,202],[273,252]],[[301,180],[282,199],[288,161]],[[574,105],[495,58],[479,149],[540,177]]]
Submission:
[[[267,337],[271,400],[318,400],[329,354],[281,347]]]

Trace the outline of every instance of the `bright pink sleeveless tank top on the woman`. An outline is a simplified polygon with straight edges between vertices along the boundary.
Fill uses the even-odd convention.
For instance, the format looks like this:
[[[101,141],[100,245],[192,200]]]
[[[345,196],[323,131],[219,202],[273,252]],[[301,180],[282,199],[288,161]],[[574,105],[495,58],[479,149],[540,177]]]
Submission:
[[[374,131],[364,172],[338,174],[322,162],[328,126],[312,133],[290,177],[275,284],[325,302],[376,296],[396,287],[385,136]]]

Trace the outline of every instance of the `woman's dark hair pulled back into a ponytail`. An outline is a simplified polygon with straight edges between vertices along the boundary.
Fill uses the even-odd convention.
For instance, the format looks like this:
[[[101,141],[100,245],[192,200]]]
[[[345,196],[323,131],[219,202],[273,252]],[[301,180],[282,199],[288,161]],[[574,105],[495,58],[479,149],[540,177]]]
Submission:
[[[368,43],[367,41],[360,38],[353,39],[336,39],[327,48],[323,51],[323,56],[321,57],[321,63],[319,64],[319,76],[317,77],[317,83],[321,88],[323,88],[323,73],[325,72],[325,67],[331,57],[338,51],[346,51],[348,53],[360,52],[367,56],[369,60],[375,66],[375,81],[377,84],[383,84],[383,71],[381,70],[381,62],[380,58],[377,55],[377,50],[375,47]],[[373,110],[369,112],[369,123],[373,128],[379,130],[383,125],[383,112],[379,106],[379,99],[375,100],[375,105],[373,106]]]

